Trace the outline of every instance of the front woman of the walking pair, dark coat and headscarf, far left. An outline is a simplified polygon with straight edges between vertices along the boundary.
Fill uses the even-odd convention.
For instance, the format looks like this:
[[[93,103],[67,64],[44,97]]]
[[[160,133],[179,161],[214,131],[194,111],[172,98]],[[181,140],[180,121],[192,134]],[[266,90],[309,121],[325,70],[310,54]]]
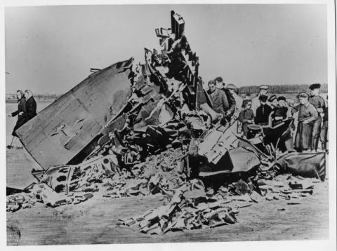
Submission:
[[[13,148],[14,142],[18,135],[15,133],[15,131],[20,128],[24,123],[27,122],[27,110],[26,110],[26,100],[25,100],[25,94],[22,92],[22,90],[18,90],[16,92],[16,97],[18,98],[18,110],[12,112],[11,114],[8,114],[8,117],[15,117],[18,116],[18,121],[16,121],[16,124],[13,128],[12,132],[12,140],[11,144],[8,144],[7,148],[11,149]]]

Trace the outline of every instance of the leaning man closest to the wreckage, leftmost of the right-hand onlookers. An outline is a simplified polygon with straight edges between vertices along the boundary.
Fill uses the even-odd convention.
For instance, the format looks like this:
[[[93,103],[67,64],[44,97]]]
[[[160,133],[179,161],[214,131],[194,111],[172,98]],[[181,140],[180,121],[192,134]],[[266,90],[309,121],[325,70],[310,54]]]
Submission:
[[[207,94],[210,97],[212,109],[221,117],[221,124],[225,124],[225,118],[230,114],[228,112],[228,100],[225,92],[216,88],[216,81],[209,81],[209,90]],[[214,121],[213,121],[214,122]]]

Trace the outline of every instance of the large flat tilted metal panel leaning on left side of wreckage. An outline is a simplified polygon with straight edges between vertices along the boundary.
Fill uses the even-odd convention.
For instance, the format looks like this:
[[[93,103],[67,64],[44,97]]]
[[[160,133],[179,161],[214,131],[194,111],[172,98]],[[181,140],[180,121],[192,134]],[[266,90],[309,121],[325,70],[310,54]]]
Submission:
[[[133,58],[91,74],[17,130],[41,168],[69,163],[95,140],[131,95],[132,64]]]

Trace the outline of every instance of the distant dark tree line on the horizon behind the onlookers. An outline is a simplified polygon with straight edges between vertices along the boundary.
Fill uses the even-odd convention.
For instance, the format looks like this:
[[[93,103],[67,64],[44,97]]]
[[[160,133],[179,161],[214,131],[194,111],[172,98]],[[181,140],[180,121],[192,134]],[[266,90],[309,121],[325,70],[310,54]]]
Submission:
[[[268,93],[303,93],[309,92],[310,84],[293,84],[293,85],[271,85],[269,86]],[[238,89],[238,93],[253,94],[259,92],[259,86],[242,86]],[[322,83],[321,93],[328,92],[328,84]]]

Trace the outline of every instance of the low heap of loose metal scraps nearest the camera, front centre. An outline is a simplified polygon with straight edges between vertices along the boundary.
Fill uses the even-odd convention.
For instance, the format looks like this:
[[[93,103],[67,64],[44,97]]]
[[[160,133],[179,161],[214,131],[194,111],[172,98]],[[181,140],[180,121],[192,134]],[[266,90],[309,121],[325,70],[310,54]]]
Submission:
[[[212,194],[206,194],[202,182],[190,182],[180,187],[171,200],[140,217],[119,220],[117,224],[138,224],[143,233],[161,234],[183,229],[213,228],[237,222],[235,214],[226,204]],[[199,186],[198,186],[199,185]]]

